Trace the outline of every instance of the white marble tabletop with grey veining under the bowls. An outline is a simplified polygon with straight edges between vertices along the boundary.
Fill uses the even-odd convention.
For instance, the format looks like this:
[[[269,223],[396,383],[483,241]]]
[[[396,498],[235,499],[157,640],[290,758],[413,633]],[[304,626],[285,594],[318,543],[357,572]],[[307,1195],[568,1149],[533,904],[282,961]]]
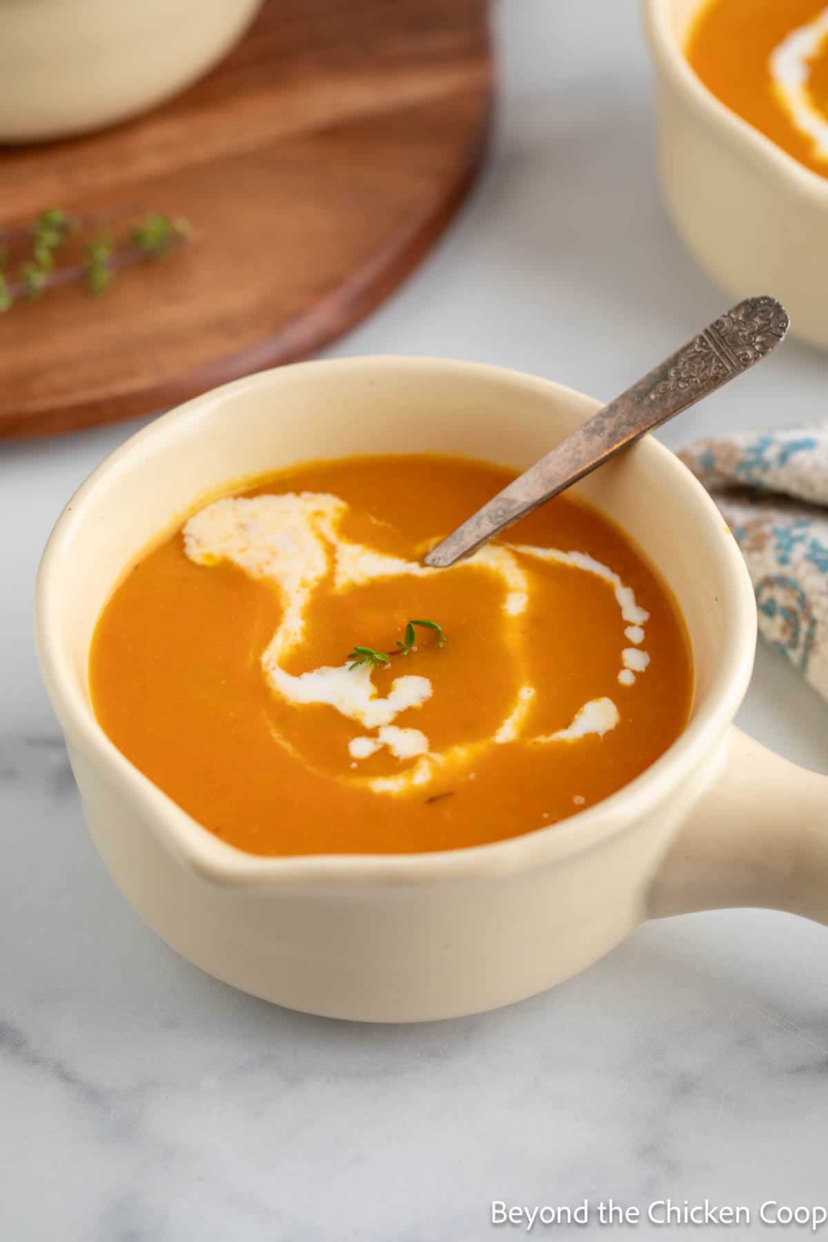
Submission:
[[[658,199],[636,2],[508,0],[497,27],[487,174],[331,353],[478,358],[610,397],[725,301]],[[664,438],[812,417],[827,375],[790,343]],[[0,456],[0,1238],[473,1242],[493,1199],[826,1202],[823,928],[650,924],[549,995],[392,1028],[269,1007],[142,925],[87,838],[30,620],[53,519],[135,426]],[[740,719],[828,770],[828,708],[768,652]]]

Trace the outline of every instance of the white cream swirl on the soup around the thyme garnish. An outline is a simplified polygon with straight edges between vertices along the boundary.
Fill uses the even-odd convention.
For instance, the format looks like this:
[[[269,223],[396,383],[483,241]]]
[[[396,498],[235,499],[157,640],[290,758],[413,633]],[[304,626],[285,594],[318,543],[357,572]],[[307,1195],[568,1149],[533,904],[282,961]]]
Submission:
[[[389,693],[381,696],[366,664],[351,669],[344,663],[299,674],[288,673],[283,661],[302,643],[307,609],[317,589],[331,574],[331,589],[338,592],[382,578],[425,578],[434,573],[454,571],[428,569],[420,561],[390,556],[364,544],[351,543],[339,530],[346,513],[345,502],[329,493],[227,497],[206,505],[184,525],[185,551],[196,564],[210,566],[228,560],[251,578],[266,579],[277,586],[283,615],[262,655],[262,669],[271,691],[294,704],[326,704],[364,729],[376,730],[375,737],[361,734],[350,739],[349,754],[354,763],[370,758],[382,748],[387,748],[401,761],[416,760],[394,775],[356,775],[343,777],[344,780],[364,785],[375,792],[398,795],[428,784],[437,769],[470,765],[493,743],[571,743],[590,734],[603,737],[617,725],[621,717],[616,704],[610,698],[601,698],[585,703],[567,728],[525,738],[524,729],[535,698],[534,686],[525,681],[508,715],[490,739],[458,743],[441,751],[432,751],[428,738],[420,729],[398,728],[394,724],[402,712],[421,708],[428,702],[432,696],[428,678],[396,677]],[[618,574],[586,553],[525,544],[487,544],[458,569],[485,573],[502,581],[504,641],[519,658],[519,663],[525,666],[516,619],[526,611],[529,604],[529,581],[520,564],[521,556],[593,574],[612,589],[622,621],[627,622],[624,636],[636,643],[622,651],[618,681],[622,686],[633,684],[636,672],[643,672],[649,663],[649,656],[641,650],[643,627],[649,614],[639,607],[634,592]],[[287,738],[278,733],[276,738],[305,761]]]

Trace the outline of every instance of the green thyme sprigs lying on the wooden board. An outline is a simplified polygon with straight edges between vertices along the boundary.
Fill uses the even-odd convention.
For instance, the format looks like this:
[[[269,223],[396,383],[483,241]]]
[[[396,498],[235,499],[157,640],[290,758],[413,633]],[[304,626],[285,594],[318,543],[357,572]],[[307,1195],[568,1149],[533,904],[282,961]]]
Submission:
[[[84,226],[88,227],[88,221],[83,217],[71,216],[62,207],[50,207],[31,226],[0,231],[0,242],[27,241],[31,246],[30,257],[20,263],[15,276],[7,274],[7,251],[0,251],[0,312],[11,310],[17,302],[38,298],[61,284],[83,283],[87,292],[97,297],[109,288],[119,270],[146,258],[159,258],[190,237],[186,220],[153,211],[142,216],[119,241],[108,231],[99,231],[86,243],[82,262],[58,267],[56,252]]]

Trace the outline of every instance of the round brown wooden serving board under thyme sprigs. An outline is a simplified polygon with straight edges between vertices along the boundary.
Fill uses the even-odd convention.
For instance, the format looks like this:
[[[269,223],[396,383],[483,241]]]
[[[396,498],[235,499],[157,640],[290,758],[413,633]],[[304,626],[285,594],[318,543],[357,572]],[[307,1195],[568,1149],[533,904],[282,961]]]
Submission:
[[[0,315],[0,437],[160,410],[358,323],[461,204],[490,91],[485,0],[268,0],[171,103],[1,149],[5,227],[137,205],[194,240],[99,298],[70,286]]]

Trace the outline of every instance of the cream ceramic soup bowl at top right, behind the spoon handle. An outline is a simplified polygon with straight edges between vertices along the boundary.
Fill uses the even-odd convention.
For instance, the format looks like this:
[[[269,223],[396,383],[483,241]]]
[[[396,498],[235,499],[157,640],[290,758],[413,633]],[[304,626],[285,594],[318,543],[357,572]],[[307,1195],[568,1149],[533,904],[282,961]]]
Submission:
[[[699,0],[643,2],[662,186],[679,233],[734,298],[772,289],[794,334],[828,348],[828,179],[701,84],[683,52]]]

